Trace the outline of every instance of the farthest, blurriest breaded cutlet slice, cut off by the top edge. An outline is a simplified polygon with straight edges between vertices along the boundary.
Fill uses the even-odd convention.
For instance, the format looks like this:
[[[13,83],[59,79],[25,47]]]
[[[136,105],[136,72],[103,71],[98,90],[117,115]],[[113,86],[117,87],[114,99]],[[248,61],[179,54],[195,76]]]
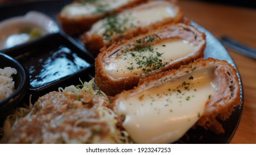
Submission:
[[[69,35],[78,35],[91,28],[108,14],[145,3],[147,0],[80,0],[65,6],[57,15],[62,29]]]

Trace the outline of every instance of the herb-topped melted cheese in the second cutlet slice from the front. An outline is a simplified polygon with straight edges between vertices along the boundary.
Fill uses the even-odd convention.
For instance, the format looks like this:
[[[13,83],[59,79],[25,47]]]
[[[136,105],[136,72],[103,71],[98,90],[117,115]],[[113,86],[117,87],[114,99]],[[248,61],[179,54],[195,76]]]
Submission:
[[[146,70],[153,70],[155,66],[168,64],[196,50],[196,46],[182,39],[165,40],[152,47],[153,50],[149,48],[143,52],[131,51],[123,55],[119,53],[106,58],[104,64],[106,73],[114,79],[144,74]],[[156,63],[151,66],[147,65],[151,60]],[[161,64],[159,64],[160,61]]]

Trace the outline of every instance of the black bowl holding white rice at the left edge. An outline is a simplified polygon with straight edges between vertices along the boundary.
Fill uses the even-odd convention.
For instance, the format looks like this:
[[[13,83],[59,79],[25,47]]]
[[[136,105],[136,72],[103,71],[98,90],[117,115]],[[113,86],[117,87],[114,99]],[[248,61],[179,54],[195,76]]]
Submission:
[[[12,95],[6,99],[0,100],[0,123],[2,125],[4,119],[9,112],[14,110],[16,106],[22,104],[23,97],[27,94],[29,86],[29,75],[27,70],[18,63],[17,60],[11,58],[6,54],[0,53],[0,68],[11,67],[17,70],[16,75],[12,75],[14,83],[14,89]]]

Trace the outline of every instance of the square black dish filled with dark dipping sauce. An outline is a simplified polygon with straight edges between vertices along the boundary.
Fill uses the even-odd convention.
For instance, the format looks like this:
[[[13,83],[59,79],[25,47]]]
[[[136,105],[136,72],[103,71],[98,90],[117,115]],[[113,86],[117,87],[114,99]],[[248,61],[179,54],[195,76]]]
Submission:
[[[29,73],[32,103],[59,87],[81,84],[94,76],[94,56],[63,33],[46,35],[30,44],[3,50]],[[80,80],[79,80],[80,79]]]

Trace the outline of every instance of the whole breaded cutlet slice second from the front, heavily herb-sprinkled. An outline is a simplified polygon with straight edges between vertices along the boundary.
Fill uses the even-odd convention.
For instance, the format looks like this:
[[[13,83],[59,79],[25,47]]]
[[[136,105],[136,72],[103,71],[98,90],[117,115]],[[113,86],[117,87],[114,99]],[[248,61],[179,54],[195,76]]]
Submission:
[[[204,33],[190,24],[168,24],[147,34],[101,49],[95,60],[95,82],[108,95],[136,86],[143,77],[203,57]]]

